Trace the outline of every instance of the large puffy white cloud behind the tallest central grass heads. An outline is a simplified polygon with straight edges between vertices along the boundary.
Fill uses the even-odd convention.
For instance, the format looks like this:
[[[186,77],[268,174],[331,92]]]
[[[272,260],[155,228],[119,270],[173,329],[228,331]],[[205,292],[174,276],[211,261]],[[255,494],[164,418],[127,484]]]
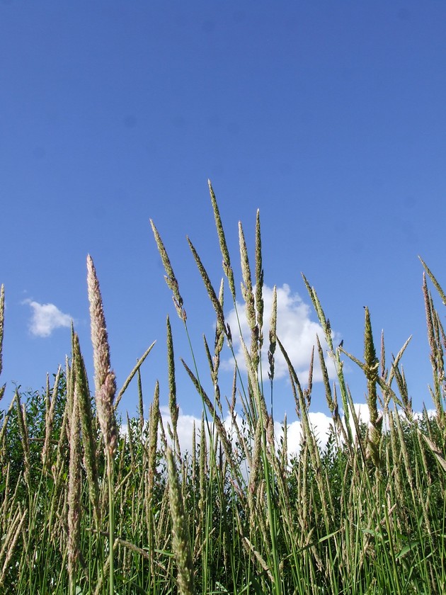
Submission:
[[[327,348],[324,341],[324,331],[319,322],[311,320],[311,309],[308,304],[304,303],[302,298],[297,293],[291,293],[289,285],[285,284],[277,288],[278,293],[278,317],[277,317],[277,335],[280,342],[285,347],[285,350],[290,356],[290,361],[295,367],[296,372],[302,375],[304,379],[308,377],[309,363],[311,360],[311,350],[316,346],[316,334],[319,336],[323,348]],[[268,334],[269,322],[271,317],[271,310],[273,307],[273,288],[267,285],[263,286],[263,361],[262,370],[265,378],[268,378]],[[241,326],[241,334],[244,341],[248,345],[251,331],[248,327],[248,322],[245,315],[245,307],[243,304],[237,302],[237,312],[239,313],[239,320]],[[236,311],[233,309],[226,316],[232,331],[232,339],[234,341],[234,348],[236,350],[236,357],[239,366],[246,369],[244,364],[244,353],[239,339],[239,323],[237,320]],[[339,341],[340,335],[333,333],[333,341]],[[231,361],[225,362],[225,366],[231,366]],[[334,372],[334,366],[329,358],[326,358],[326,366],[328,373]],[[288,376],[288,367],[285,358],[282,356],[280,348],[277,346],[275,351],[275,378],[283,378]],[[321,368],[319,365],[319,357],[315,348],[314,356],[314,375],[315,382],[322,380]]]

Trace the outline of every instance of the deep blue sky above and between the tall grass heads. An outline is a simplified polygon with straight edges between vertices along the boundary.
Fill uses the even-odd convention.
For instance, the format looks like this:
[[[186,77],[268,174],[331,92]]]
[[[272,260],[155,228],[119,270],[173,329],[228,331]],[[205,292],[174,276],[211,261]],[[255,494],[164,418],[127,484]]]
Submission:
[[[185,239],[218,288],[209,178],[237,276],[238,222],[253,258],[260,209],[265,296],[280,288],[278,324],[302,383],[318,327],[301,271],[355,356],[365,305],[377,344],[384,329],[388,362],[413,335],[409,392],[429,407],[417,255],[446,285],[445,62],[443,1],[0,2],[5,400],[14,382],[39,388],[64,363],[71,319],[91,373],[91,254],[118,385],[156,339],[142,367],[144,402],[159,378],[166,404],[169,314],[178,402],[200,414],[149,218],[212,392],[202,334],[213,345],[214,315]],[[229,290],[225,312],[231,319]],[[364,401],[355,366],[346,370]],[[230,381],[222,370],[224,392]],[[130,385],[122,412],[135,414],[136,395]],[[314,412],[326,411],[321,395],[316,383]],[[292,419],[285,374],[275,388],[278,418],[284,411]]]

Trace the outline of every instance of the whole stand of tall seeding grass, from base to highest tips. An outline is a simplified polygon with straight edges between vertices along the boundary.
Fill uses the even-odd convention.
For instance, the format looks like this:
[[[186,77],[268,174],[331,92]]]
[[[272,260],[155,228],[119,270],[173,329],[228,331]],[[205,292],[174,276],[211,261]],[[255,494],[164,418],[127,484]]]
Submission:
[[[212,187],[210,193],[224,275],[236,306],[234,270]],[[189,336],[178,280],[153,222],[151,227],[176,313]],[[0,412],[0,592],[445,592],[446,339],[428,281],[445,301],[440,284],[423,263],[433,368],[430,398],[435,410],[428,415],[426,409],[421,414],[412,409],[401,367],[406,346],[388,365],[384,339],[378,350],[367,309],[362,358],[333,346],[319,297],[304,278],[324,331],[324,337],[317,339],[316,357],[321,363],[332,426],[328,443],[321,448],[309,423],[311,372],[307,385],[302,385],[287,356],[287,346],[276,336],[275,305],[270,332],[263,335],[258,213],[252,267],[241,225],[239,238],[242,296],[250,335],[243,342],[247,378],[234,355],[234,385],[227,398],[230,431],[224,424],[219,361],[224,348],[235,353],[232,332],[239,334],[239,330],[230,329],[224,319],[224,283],[215,290],[189,240],[216,316],[213,347],[205,339],[209,370],[198,370],[193,351],[192,368],[182,361],[203,404],[190,453],[182,453],[178,440],[169,319],[171,424],[164,427],[158,382],[147,423],[142,416],[139,366],[152,346],[116,394],[98,277],[88,256],[93,395],[73,329],[72,357],[64,369],[59,368],[52,383],[48,379],[46,390],[16,392],[8,409]],[[0,373],[3,329],[2,288]],[[323,339],[336,378],[328,378]],[[270,413],[277,349],[290,368],[290,396],[302,423],[299,453],[292,457],[287,450],[286,421],[278,443]],[[262,352],[268,353],[269,383],[263,381]],[[361,424],[355,414],[343,375],[345,358],[354,361],[367,380],[369,426]],[[207,373],[212,395],[205,392],[202,382]],[[134,377],[139,416],[127,419],[127,433],[122,433],[115,411]],[[3,395],[4,387],[0,389],[0,397]]]

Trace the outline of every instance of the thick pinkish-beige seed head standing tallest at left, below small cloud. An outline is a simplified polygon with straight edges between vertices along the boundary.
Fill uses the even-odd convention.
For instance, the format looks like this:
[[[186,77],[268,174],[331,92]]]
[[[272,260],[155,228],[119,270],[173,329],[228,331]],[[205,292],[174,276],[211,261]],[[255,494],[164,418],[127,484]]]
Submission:
[[[94,382],[99,425],[110,454],[115,452],[117,430],[113,399],[116,393],[115,373],[110,368],[110,347],[96,269],[87,256],[88,300],[90,302],[91,342],[93,343]]]

